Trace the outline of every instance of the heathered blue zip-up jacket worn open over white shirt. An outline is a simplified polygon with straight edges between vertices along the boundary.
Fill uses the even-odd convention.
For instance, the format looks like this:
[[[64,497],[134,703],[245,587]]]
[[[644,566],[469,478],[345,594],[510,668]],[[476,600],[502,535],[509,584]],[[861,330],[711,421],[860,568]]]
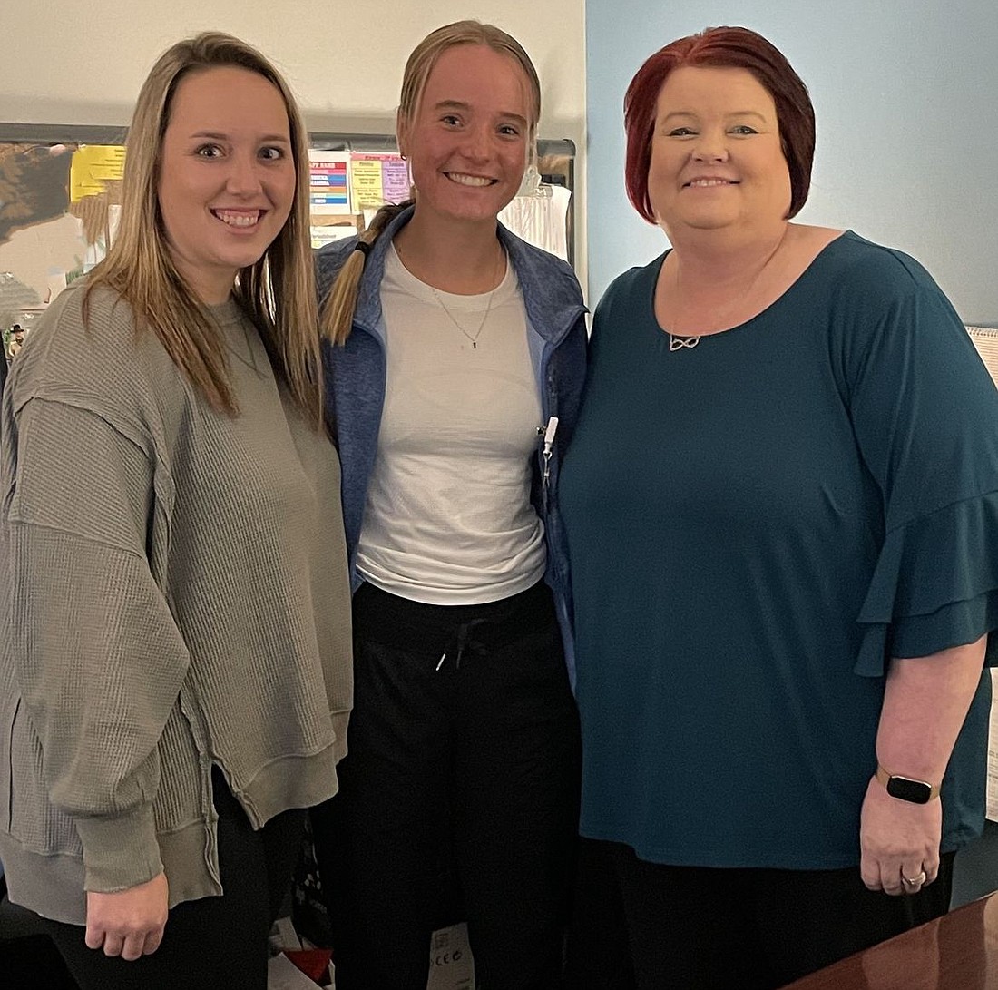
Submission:
[[[394,218],[374,243],[364,265],[353,327],[342,347],[326,342],[323,361],[326,415],[334,424],[343,478],[343,525],[354,590],[357,541],[367,501],[367,485],[374,467],[385,391],[385,325],[381,312],[381,278],[392,238],[412,217],[409,208]],[[565,530],[558,511],[558,475],[562,455],[579,418],[586,377],[586,307],[572,268],[560,258],[534,248],[499,226],[499,241],[516,271],[527,309],[527,338],[541,399],[544,422],[558,417],[558,431],[547,478],[543,445],[538,440],[534,461],[532,501],[544,522],[548,565],[545,580],[551,586],[565,642],[569,679],[575,688],[572,648],[572,588]],[[356,238],[336,241],[315,255],[319,300],[324,301]]]

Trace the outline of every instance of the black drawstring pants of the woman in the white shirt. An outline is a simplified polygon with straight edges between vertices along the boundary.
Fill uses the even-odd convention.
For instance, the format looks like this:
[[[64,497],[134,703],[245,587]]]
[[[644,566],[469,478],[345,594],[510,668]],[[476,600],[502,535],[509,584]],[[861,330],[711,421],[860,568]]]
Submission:
[[[337,990],[425,990],[445,876],[484,990],[560,978],[579,723],[551,593],[428,606],[354,596],[339,793],[313,810]]]

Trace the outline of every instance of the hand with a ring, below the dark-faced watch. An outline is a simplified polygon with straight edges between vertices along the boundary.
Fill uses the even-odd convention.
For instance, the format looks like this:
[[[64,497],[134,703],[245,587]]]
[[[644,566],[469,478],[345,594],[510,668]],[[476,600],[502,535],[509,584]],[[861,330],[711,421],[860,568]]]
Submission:
[[[859,822],[859,872],[870,890],[913,894],[936,878],[942,834],[939,798],[926,804],[902,801],[871,777]]]

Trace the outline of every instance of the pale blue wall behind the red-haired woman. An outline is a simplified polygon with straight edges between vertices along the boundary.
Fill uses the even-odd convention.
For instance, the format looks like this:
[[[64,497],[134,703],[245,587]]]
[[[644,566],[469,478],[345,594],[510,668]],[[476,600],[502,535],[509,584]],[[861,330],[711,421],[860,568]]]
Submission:
[[[810,90],[798,219],[908,251],[966,322],[998,324],[995,0],[587,0],[591,304],[667,245],[624,193],[624,91],[653,51],[716,24],[765,35]]]

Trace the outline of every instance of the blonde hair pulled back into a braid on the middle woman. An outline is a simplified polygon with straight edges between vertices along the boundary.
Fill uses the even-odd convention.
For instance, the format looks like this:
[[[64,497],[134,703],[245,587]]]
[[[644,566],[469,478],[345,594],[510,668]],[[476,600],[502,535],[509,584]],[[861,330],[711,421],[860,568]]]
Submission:
[[[536,158],[537,123],[541,117],[541,82],[534,63],[530,61],[530,56],[523,46],[516,38],[494,24],[455,21],[453,24],[445,24],[431,31],[416,45],[405,63],[405,72],[402,75],[402,94],[397,115],[399,125],[408,124],[415,119],[433,67],[444,52],[458,45],[484,45],[500,55],[509,56],[523,70],[530,90],[531,119],[528,144],[531,158]],[[415,201],[406,200],[405,203],[382,207],[375,214],[367,230],[360,235],[360,242],[368,247],[373,245],[391,221],[406,207],[412,206],[413,202]],[[357,308],[360,276],[363,274],[366,257],[366,251],[351,251],[326,296],[322,307],[322,335],[333,343],[341,344],[350,335],[353,314]]]

